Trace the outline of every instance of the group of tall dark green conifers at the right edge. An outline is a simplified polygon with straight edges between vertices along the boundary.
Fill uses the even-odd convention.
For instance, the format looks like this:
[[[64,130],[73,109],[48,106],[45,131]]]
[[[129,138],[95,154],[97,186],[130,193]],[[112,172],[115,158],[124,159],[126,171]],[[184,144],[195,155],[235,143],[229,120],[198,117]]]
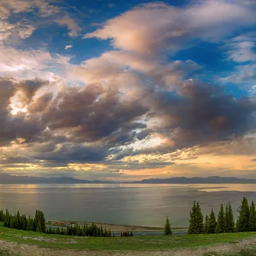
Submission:
[[[218,216],[211,213],[205,216],[198,202],[194,201],[190,211],[188,234],[220,234],[232,232],[256,231],[256,210],[252,201],[248,204],[246,197],[243,198],[241,205],[237,209],[239,216],[234,220],[232,205],[230,202],[225,206],[220,205]]]

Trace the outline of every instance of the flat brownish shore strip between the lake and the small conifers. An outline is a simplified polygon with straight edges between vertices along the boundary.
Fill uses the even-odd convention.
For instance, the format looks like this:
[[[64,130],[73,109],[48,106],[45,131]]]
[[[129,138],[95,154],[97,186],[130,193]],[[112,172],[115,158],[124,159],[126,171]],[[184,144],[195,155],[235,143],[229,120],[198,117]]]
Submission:
[[[163,232],[164,227],[147,227],[147,226],[138,226],[138,225],[126,225],[126,224],[113,224],[113,223],[100,223],[100,222],[90,222],[90,221],[52,221],[46,220],[46,225],[51,225],[55,227],[67,227],[68,224],[79,224],[79,225],[90,225],[95,223],[97,226],[101,226],[102,228],[110,228],[111,231],[120,232],[120,231],[132,231],[132,232]],[[187,227],[172,227],[173,231],[186,231]]]

